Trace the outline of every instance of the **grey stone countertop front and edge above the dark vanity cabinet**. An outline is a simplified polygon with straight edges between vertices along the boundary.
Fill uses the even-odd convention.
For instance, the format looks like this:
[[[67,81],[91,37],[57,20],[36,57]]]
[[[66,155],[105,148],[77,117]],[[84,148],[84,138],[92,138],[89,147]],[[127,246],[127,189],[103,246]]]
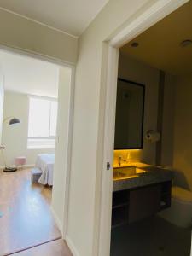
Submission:
[[[172,170],[157,166],[145,166],[140,168],[148,172],[141,173],[138,177],[113,180],[113,192],[125,189],[136,189],[155,183],[162,183],[172,180],[173,178]]]

